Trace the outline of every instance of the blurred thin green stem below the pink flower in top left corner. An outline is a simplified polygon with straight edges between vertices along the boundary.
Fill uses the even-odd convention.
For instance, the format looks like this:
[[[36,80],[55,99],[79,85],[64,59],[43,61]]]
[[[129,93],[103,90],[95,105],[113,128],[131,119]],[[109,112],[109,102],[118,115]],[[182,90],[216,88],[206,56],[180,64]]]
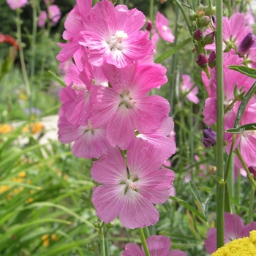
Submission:
[[[20,53],[20,64],[21,64],[21,70],[22,70],[23,79],[24,79],[24,83],[25,83],[26,94],[28,95],[28,97],[30,97],[31,91],[30,91],[30,86],[29,86],[28,75],[26,73],[26,64],[25,64],[25,60],[24,60],[22,40],[21,40],[20,12],[21,12],[20,9],[16,10],[16,15],[17,15],[16,26],[17,26],[17,38],[18,38],[19,53]]]

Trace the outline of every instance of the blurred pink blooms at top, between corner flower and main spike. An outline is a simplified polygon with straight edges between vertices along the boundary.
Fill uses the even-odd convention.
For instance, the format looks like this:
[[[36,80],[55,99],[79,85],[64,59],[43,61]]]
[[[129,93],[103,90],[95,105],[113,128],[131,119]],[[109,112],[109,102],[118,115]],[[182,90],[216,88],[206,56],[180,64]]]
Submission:
[[[54,1],[51,1],[53,3]],[[45,4],[48,4],[47,1],[45,1]],[[61,18],[61,10],[59,9],[58,5],[56,4],[50,4],[48,6],[47,12],[43,10],[41,14],[38,17],[38,23],[37,25],[42,28],[45,26],[45,23],[47,20],[50,20],[51,26],[55,26],[58,22],[59,19]]]

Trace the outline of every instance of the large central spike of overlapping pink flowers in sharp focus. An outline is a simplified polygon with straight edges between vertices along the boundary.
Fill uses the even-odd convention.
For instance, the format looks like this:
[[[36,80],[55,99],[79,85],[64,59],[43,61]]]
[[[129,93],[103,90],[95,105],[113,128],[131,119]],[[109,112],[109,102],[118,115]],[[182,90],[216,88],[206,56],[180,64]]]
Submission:
[[[77,0],[64,23],[69,42],[59,44],[57,56],[73,60],[59,93],[59,140],[74,142],[77,157],[98,159],[91,177],[100,184],[92,195],[99,219],[119,217],[132,229],[159,220],[153,204],[168,199],[174,179],[161,167],[176,151],[169,103],[148,96],[167,78],[154,64],[145,21],[125,5]]]

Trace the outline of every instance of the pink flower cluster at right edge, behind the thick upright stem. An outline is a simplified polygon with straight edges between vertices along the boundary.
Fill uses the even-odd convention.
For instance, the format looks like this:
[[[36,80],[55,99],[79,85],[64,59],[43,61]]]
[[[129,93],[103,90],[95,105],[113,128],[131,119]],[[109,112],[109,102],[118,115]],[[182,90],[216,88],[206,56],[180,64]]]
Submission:
[[[228,20],[223,18],[224,39],[224,130],[234,127],[243,92],[251,88],[255,80],[229,69],[229,65],[246,65],[256,67],[256,37],[252,29],[246,26],[244,14],[235,13]],[[208,46],[208,45],[206,45]],[[214,45],[211,48],[214,50]],[[211,126],[217,121],[217,74],[216,67],[211,69],[208,79],[203,74],[203,82],[208,91],[205,108],[203,110],[204,122]],[[240,125],[256,122],[256,99],[252,97],[241,118]],[[229,153],[232,143],[232,134],[225,132],[226,150]],[[241,156],[248,167],[256,168],[256,133],[245,131],[236,136],[234,149],[239,148]],[[236,164],[236,162],[235,162]]]

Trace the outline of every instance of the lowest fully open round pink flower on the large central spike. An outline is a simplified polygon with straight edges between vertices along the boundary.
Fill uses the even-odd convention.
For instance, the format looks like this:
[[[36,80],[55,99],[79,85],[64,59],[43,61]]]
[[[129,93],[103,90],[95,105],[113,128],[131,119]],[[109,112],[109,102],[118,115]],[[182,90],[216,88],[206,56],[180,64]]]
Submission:
[[[165,203],[174,179],[172,170],[159,170],[164,159],[142,139],[128,148],[127,165],[118,148],[109,148],[91,167],[91,177],[102,184],[92,195],[99,219],[111,222],[119,216],[131,229],[156,224],[159,213],[153,203]]]

